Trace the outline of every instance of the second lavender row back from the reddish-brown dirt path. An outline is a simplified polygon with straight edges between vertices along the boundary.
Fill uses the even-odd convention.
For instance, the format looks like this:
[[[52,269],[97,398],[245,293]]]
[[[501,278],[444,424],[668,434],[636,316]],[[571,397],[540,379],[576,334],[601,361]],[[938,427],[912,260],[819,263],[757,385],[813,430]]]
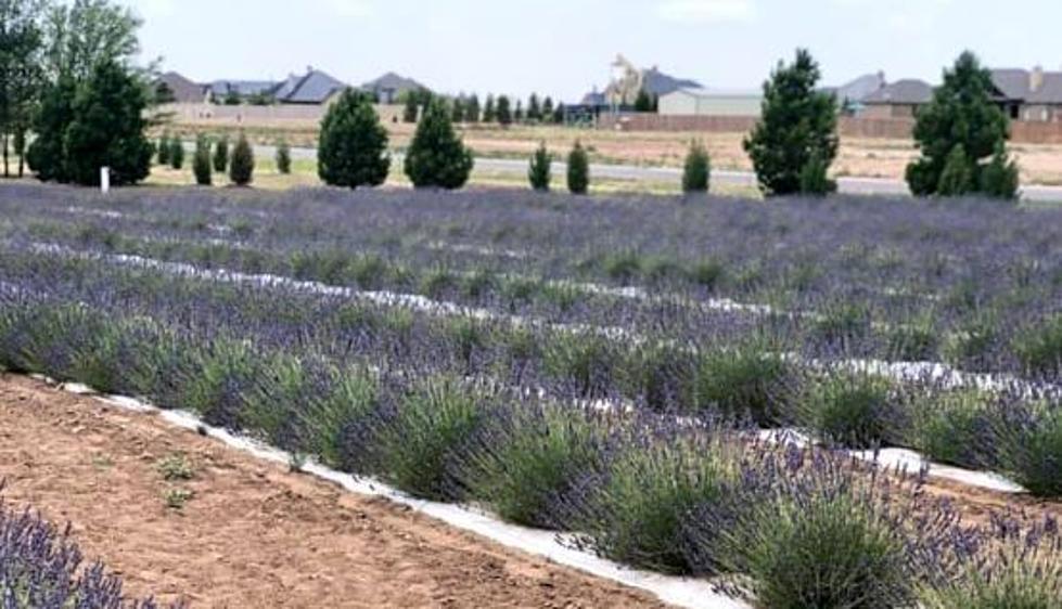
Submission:
[[[566,401],[607,401],[764,427],[798,426],[828,445],[913,448],[937,462],[1006,472],[1040,496],[1062,495],[1062,406],[1057,388],[1048,386],[1023,384],[988,392],[932,378],[897,381],[839,366],[811,366],[780,355],[768,340],[747,338],[762,328],[739,329],[725,318],[702,344],[632,341],[353,303],[284,287],[171,277],[57,255],[5,254],[0,259],[0,278],[20,286],[7,295],[7,325],[37,326],[38,339],[43,335],[60,350],[84,332],[79,327],[91,324],[38,318],[38,298],[137,319],[177,320],[196,333],[234,341],[235,351],[227,350],[221,359],[249,358],[240,357],[238,347],[251,339],[267,348],[297,349],[311,359],[396,370],[406,377],[476,378]],[[29,300],[20,300],[25,298]],[[7,352],[24,349],[27,338],[21,332],[0,332]],[[111,370],[110,360],[125,360],[126,351],[117,342],[95,346],[87,350],[91,361],[77,370]],[[172,374],[170,364],[157,362],[159,374]],[[31,371],[34,364],[9,362],[9,367]],[[97,387],[136,392],[120,379],[94,376]],[[204,415],[212,423],[235,425],[230,410],[216,404]]]

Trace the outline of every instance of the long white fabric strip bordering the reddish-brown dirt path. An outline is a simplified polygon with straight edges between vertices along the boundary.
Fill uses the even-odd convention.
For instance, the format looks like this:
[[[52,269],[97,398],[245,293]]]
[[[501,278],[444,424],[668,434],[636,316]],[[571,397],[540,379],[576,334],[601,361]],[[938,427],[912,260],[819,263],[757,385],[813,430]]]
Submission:
[[[54,383],[42,376],[36,378]],[[95,396],[99,401],[111,406],[139,413],[157,413],[167,423],[184,429],[205,429],[209,437],[264,461],[291,463],[291,455],[284,451],[206,425],[189,412],[163,410],[127,397],[100,396],[91,388],[79,384],[64,384],[61,387],[71,393]],[[601,579],[643,589],[669,605],[689,609],[751,609],[747,604],[716,592],[707,580],[675,578],[628,569],[590,553],[567,547],[558,541],[556,533],[502,522],[488,514],[460,505],[413,498],[376,480],[356,478],[314,462],[307,463],[303,471],[338,484],[353,493],[386,497],[395,503],[407,505],[426,516],[483,535],[504,546],[548,558],[559,565]]]

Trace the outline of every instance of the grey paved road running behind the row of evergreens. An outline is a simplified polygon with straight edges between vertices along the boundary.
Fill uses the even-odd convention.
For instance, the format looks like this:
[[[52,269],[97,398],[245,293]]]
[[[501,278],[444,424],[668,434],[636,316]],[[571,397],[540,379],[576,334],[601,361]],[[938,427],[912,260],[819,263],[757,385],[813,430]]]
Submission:
[[[274,146],[255,146],[255,155],[272,157]],[[292,158],[317,158],[315,148],[292,148]],[[510,158],[476,158],[476,168],[499,173],[527,174],[527,161]],[[553,173],[563,176],[567,166],[563,163],[553,164]],[[591,164],[590,174],[611,180],[631,180],[651,182],[679,183],[682,170],[675,167],[638,167],[635,165]],[[737,186],[755,186],[756,176],[748,171],[715,170],[712,180]],[[884,178],[841,178],[837,187],[842,193],[863,195],[908,195],[907,184],[900,180]],[[1022,189],[1022,198],[1035,203],[1062,202],[1062,186],[1028,185]]]

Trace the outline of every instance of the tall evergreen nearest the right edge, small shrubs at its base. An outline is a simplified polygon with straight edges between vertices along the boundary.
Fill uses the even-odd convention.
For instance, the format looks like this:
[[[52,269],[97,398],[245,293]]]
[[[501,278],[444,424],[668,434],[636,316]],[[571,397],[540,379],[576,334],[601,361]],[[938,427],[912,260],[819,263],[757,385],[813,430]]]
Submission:
[[[993,101],[994,91],[991,73],[969,51],[945,70],[944,83],[933,92],[930,104],[919,111],[914,124],[914,141],[922,154],[907,167],[912,193],[944,194],[938,192],[944,182],[942,174],[957,146],[961,146],[969,164],[971,189],[983,183],[982,161],[1008,138],[1007,115]],[[949,186],[955,185],[956,177],[952,171]]]

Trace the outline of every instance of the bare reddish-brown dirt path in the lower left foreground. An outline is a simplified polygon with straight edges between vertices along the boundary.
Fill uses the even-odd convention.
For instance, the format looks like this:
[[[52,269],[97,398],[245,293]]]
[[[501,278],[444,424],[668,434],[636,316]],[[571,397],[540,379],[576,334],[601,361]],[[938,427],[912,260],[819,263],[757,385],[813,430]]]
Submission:
[[[183,452],[188,482],[158,463]],[[157,416],[0,375],[9,506],[73,524],[127,593],[193,608],[662,607],[384,500],[292,475]],[[168,489],[194,496],[166,506]]]

